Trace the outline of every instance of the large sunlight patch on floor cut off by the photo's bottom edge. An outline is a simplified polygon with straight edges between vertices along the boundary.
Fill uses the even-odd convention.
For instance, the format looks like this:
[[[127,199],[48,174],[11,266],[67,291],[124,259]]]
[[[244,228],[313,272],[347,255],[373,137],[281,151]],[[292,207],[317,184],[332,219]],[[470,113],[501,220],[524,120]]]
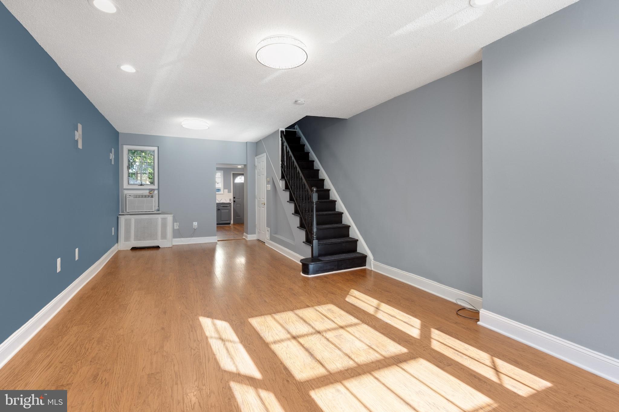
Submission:
[[[324,412],[472,412],[493,400],[425,359],[413,359],[309,393]]]

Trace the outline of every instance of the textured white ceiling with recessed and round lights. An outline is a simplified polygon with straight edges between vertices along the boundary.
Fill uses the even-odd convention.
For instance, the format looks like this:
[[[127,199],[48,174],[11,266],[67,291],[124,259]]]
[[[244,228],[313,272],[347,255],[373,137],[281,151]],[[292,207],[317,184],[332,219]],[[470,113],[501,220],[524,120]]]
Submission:
[[[241,142],[306,115],[353,116],[575,1],[115,0],[105,14],[88,0],[2,0],[119,132]],[[277,34],[307,45],[303,66],[256,61]],[[183,129],[186,118],[211,127]]]

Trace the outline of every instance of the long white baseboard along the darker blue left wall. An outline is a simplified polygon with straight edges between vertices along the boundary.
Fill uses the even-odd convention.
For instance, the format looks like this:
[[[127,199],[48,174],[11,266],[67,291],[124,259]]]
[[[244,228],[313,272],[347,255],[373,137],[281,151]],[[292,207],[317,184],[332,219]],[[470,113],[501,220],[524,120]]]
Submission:
[[[17,329],[4,342],[0,343],[0,367],[4,366],[30,339],[37,334],[50,320],[67,304],[68,301],[79,291],[99,270],[110,260],[118,251],[118,244],[115,244],[109,251],[97,260],[86,272],[67,286],[56,298],[43,307],[32,319],[28,320],[22,327]]]

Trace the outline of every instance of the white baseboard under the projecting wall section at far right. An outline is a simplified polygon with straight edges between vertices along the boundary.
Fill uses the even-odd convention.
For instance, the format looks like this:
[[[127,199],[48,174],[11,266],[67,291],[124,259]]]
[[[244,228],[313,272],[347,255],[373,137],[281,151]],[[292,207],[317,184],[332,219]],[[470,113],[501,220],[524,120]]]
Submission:
[[[619,359],[592,351],[550,333],[483,310],[478,325],[487,327],[517,341],[551,354],[555,358],[578,366],[598,376],[619,384]]]

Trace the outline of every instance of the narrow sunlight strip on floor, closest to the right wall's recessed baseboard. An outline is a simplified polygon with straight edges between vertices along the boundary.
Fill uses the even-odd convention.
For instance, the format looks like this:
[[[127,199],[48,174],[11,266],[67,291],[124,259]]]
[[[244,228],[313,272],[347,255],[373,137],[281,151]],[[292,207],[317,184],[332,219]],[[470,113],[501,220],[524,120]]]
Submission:
[[[373,314],[380,320],[384,320],[387,324],[392,325],[404,333],[408,333],[413,338],[420,337],[422,322],[416,317],[405,314],[395,307],[391,307],[382,303],[370,296],[361,293],[360,291],[351,289],[346,296],[346,301],[363,309],[364,311]]]

